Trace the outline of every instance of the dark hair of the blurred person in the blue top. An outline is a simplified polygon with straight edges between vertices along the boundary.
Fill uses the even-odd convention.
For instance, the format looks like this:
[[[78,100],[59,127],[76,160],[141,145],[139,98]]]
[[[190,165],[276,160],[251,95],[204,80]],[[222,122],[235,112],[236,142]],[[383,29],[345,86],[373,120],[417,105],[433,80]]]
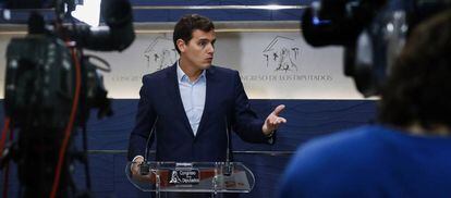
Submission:
[[[451,10],[418,25],[389,77],[379,104],[382,123],[451,127]]]

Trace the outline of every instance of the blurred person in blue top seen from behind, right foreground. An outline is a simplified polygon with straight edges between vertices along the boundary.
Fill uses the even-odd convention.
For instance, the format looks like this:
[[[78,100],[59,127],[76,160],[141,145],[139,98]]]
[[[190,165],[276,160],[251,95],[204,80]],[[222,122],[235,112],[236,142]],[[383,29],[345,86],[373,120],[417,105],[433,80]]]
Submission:
[[[451,11],[419,24],[381,92],[379,123],[301,146],[279,197],[451,196]]]

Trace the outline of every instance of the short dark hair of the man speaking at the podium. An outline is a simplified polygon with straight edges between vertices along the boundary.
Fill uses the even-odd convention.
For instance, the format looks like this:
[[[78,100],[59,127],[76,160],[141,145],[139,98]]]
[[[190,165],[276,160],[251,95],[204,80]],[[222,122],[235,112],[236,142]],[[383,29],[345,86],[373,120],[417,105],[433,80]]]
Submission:
[[[205,16],[198,14],[186,14],[175,24],[173,41],[176,51],[180,53],[179,48],[176,47],[176,40],[182,39],[186,44],[193,38],[193,32],[199,29],[203,32],[210,32],[215,29],[212,22]]]

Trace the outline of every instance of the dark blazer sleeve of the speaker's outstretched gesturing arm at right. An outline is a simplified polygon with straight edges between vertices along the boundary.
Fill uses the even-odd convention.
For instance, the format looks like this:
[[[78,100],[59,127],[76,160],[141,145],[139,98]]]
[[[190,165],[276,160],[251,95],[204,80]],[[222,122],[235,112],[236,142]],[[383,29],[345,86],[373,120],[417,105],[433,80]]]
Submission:
[[[261,127],[264,121],[251,109],[251,103],[244,91],[239,72],[233,75],[234,108],[233,131],[245,141],[273,144],[273,137],[264,135]]]

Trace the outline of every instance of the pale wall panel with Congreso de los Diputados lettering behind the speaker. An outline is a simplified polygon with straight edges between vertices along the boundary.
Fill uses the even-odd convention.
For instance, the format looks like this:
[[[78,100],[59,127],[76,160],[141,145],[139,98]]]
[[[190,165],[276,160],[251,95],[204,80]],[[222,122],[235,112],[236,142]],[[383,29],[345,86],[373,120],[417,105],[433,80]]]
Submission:
[[[0,35],[0,83],[11,35]],[[298,32],[219,32],[214,64],[240,71],[252,99],[362,99],[343,75],[342,48],[312,48]],[[144,74],[172,64],[178,54],[171,32],[139,33],[123,52],[92,52],[107,60],[111,98],[138,98]],[[0,96],[3,97],[3,86]]]

